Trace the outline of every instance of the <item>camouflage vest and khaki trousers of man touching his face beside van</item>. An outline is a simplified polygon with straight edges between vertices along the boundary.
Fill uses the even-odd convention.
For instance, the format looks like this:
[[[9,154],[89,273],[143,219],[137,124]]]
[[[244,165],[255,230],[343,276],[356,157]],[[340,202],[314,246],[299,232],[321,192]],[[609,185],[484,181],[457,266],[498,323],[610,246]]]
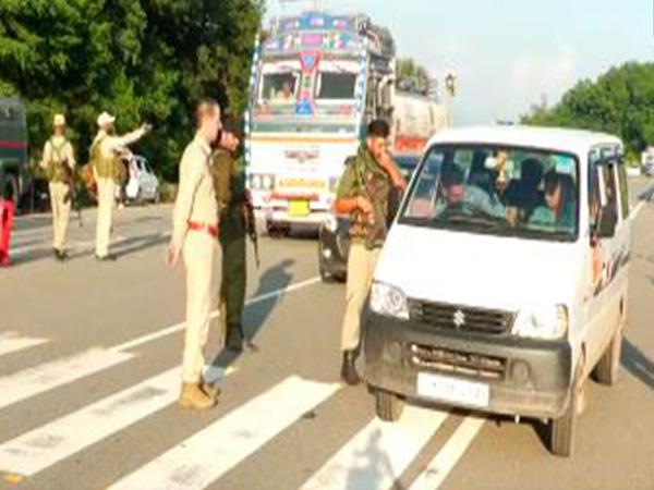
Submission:
[[[390,191],[390,176],[362,145],[356,157],[348,160],[337,191],[338,199],[356,196],[367,198],[373,204],[375,215],[372,222],[360,210],[350,218],[352,245],[348,258],[342,351],[354,351],[361,343],[361,316],[386,237]]]

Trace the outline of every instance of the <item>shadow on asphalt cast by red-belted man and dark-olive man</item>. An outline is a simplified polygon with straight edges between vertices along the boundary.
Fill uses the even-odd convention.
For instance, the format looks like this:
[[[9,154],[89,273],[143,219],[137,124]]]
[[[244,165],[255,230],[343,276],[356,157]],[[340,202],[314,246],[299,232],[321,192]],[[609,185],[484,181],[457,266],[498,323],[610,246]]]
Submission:
[[[268,270],[259,278],[258,287],[253,296],[258,297],[288,287],[293,279],[289,268],[294,264],[294,260],[287,259],[268,268]],[[253,341],[282,297],[283,295],[272,296],[257,302],[256,307],[253,305],[250,308],[245,308],[243,311],[243,334],[245,336],[244,344],[246,350],[258,351],[258,346],[255,345]],[[211,366],[227,367],[234,363],[240,356],[241,354],[239,353],[223,350],[223,352],[219,353],[213,360]]]

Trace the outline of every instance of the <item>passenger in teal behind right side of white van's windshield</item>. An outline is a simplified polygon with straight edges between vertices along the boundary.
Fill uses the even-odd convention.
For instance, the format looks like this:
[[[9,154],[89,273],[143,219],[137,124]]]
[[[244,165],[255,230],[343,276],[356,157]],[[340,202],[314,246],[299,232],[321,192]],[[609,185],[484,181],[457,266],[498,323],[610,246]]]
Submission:
[[[552,170],[545,175],[545,206],[537,207],[529,222],[574,229],[574,181]]]

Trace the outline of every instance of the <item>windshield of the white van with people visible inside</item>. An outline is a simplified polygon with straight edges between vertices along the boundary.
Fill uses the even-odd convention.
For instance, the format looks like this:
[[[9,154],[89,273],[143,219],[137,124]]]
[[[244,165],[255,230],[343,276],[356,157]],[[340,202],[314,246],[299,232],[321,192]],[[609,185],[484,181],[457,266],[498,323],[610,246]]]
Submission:
[[[542,240],[574,240],[579,164],[569,154],[492,145],[429,149],[400,222]]]

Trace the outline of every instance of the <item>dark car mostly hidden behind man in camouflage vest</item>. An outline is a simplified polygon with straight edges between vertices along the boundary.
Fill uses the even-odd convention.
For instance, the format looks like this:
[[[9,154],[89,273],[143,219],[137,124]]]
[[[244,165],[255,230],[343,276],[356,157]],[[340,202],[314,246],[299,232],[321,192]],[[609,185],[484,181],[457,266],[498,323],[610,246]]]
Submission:
[[[419,157],[401,156],[396,158],[407,182],[411,179],[417,161]],[[399,196],[395,196],[395,198],[400,199]],[[346,281],[349,255],[350,219],[329,212],[318,232],[318,268],[324,282]]]

